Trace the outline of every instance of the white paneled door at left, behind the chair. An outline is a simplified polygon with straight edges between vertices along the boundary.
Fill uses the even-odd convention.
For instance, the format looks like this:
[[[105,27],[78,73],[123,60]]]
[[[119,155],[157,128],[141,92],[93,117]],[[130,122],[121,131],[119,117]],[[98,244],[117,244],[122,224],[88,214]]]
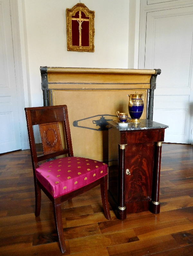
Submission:
[[[0,154],[21,149],[9,0],[0,0]]]

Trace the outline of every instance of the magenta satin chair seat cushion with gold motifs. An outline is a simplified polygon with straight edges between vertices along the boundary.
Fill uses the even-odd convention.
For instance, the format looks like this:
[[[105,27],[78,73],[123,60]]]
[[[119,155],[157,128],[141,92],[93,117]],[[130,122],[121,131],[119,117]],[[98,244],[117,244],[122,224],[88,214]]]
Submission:
[[[56,198],[107,175],[107,165],[83,157],[63,157],[36,168],[39,182]]]

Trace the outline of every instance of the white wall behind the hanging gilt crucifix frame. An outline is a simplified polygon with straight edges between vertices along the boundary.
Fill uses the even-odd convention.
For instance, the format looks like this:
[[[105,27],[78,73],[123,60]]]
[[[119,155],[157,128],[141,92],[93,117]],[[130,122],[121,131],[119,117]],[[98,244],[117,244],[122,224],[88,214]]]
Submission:
[[[67,51],[66,8],[78,0],[18,0],[26,106],[43,106],[40,66],[137,68],[140,0],[82,2],[95,11],[95,52]]]

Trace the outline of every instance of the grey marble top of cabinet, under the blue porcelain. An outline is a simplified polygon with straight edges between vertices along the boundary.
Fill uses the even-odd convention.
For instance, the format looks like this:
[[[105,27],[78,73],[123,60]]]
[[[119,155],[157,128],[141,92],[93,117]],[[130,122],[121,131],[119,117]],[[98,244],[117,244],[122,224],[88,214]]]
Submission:
[[[168,125],[157,123],[154,121],[150,121],[148,119],[140,119],[141,123],[130,123],[128,119],[128,123],[124,126],[115,123],[115,121],[108,121],[107,123],[110,124],[113,128],[119,131],[136,131],[136,130],[150,130],[150,129],[160,129],[160,128],[168,128]]]

